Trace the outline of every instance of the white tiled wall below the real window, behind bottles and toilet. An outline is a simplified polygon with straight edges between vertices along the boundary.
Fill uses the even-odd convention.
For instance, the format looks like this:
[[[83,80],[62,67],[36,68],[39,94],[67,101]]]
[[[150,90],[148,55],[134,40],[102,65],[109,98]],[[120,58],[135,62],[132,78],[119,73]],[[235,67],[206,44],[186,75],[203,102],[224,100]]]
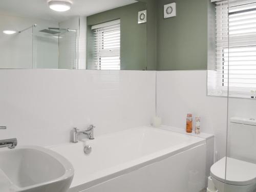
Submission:
[[[157,114],[163,124],[184,127],[186,114],[201,116],[202,132],[214,134],[219,158],[225,156],[227,109],[229,117],[255,118],[256,102],[250,99],[207,96],[207,71],[158,71]]]

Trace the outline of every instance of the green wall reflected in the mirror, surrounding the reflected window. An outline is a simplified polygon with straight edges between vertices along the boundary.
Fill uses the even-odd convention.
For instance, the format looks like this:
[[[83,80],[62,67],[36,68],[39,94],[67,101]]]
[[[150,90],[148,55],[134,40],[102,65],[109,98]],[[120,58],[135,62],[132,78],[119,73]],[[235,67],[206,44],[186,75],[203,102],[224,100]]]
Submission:
[[[94,69],[92,25],[120,19],[121,70],[146,70],[146,24],[138,24],[138,11],[146,9],[142,2],[119,7],[87,17],[87,68]]]

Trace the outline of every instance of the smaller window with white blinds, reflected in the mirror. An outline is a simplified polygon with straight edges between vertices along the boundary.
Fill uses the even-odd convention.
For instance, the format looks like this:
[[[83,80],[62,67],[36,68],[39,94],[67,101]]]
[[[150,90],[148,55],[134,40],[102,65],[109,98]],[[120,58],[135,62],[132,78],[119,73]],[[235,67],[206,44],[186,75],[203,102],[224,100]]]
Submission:
[[[92,26],[97,70],[120,70],[120,20]]]

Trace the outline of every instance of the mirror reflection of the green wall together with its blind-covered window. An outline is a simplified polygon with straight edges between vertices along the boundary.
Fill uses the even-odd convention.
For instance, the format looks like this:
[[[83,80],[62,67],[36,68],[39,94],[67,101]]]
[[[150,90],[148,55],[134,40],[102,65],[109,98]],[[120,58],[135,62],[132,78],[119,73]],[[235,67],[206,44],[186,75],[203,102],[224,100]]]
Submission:
[[[146,4],[136,2],[87,17],[87,69],[146,69],[143,10]]]

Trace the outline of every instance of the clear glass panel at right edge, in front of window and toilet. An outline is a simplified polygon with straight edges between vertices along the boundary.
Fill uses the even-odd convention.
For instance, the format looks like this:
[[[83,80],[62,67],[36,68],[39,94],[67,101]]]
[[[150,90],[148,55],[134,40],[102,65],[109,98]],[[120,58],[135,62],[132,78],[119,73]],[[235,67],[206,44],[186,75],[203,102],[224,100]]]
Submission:
[[[256,191],[255,8],[255,0],[228,0],[227,151],[220,192]]]

